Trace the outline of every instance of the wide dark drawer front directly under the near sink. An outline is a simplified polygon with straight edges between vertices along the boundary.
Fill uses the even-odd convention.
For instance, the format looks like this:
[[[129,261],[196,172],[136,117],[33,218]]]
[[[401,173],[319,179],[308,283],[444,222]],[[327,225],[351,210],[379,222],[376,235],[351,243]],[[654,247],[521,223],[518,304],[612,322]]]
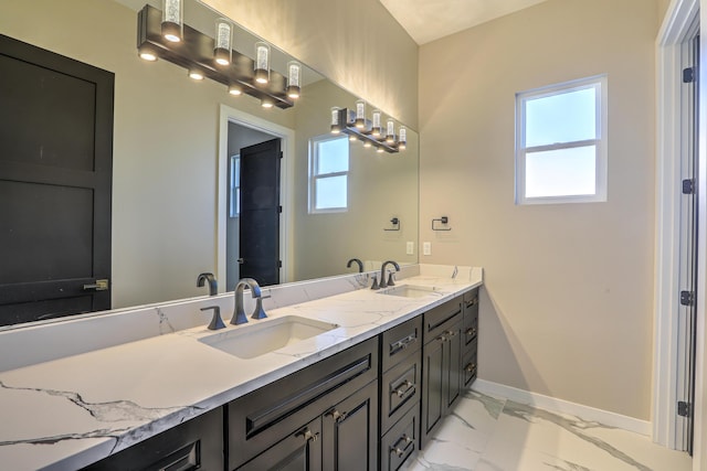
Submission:
[[[378,377],[378,338],[228,405],[229,468],[249,461]]]

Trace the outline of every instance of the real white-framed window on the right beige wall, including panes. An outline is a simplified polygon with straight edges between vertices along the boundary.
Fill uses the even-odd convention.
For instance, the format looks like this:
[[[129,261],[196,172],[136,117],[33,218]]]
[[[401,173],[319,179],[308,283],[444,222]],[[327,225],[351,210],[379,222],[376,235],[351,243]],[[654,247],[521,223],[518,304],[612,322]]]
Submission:
[[[516,95],[516,204],[606,201],[606,76]]]

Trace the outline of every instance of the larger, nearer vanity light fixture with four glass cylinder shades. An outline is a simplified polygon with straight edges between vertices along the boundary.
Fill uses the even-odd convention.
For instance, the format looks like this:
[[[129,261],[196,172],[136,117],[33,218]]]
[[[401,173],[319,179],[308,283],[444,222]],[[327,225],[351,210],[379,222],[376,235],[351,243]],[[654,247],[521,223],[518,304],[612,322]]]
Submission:
[[[267,68],[272,60],[271,50],[267,43],[262,43],[262,46],[258,44],[260,58],[266,62],[265,69],[258,68],[256,61],[252,58],[253,54],[245,55],[232,47],[235,34],[233,22],[228,19],[214,20],[212,24],[215,29],[212,32],[215,33],[215,38],[212,38],[182,22],[183,1],[163,0],[163,11],[168,11],[169,14],[150,4],[146,4],[138,12],[137,49],[140,57],[151,61],[165,60],[187,71],[197,69],[201,78],[223,84],[231,95],[238,95],[240,90],[241,94],[255,97],[261,103],[265,101],[265,105],[272,104],[281,109],[294,106],[295,100],[287,93],[288,79],[293,85],[299,82],[297,86],[303,86],[302,65],[297,77],[291,77],[289,71],[285,74],[271,71]],[[171,41],[175,38],[165,36],[163,31],[169,31],[170,28],[175,30],[170,23],[179,26],[177,31],[172,31],[178,33],[173,35],[180,40],[179,43]],[[256,71],[260,77],[265,77],[265,83],[256,82]],[[298,92],[300,93],[302,88]]]

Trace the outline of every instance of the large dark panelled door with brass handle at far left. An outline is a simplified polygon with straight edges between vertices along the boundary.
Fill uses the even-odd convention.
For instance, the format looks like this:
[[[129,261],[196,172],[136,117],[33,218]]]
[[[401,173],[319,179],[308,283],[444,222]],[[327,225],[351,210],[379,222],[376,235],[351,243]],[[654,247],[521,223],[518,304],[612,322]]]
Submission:
[[[0,35],[0,324],[110,307],[113,90]]]

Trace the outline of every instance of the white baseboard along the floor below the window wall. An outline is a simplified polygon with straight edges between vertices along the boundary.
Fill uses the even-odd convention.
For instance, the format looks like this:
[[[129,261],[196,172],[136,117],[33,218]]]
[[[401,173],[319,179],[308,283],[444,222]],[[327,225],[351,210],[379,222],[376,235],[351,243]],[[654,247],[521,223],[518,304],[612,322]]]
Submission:
[[[598,421],[610,427],[621,428],[646,437],[650,437],[652,431],[652,425],[647,420],[622,416],[621,414],[570,403],[569,400],[557,399],[542,394],[530,393],[529,390],[518,389],[490,381],[476,379],[472,385],[472,389],[489,396],[505,397],[516,403],[527,404],[550,411],[569,414],[580,417],[583,420]]]

